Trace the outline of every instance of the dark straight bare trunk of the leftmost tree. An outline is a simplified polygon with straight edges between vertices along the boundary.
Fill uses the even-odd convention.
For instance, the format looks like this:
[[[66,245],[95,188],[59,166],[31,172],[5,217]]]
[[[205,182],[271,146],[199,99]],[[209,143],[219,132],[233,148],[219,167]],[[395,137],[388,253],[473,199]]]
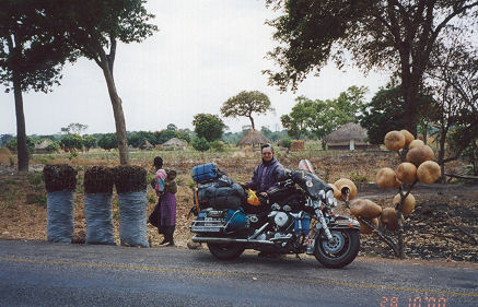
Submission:
[[[26,146],[25,114],[23,111],[22,86],[20,76],[14,71],[13,93],[15,97],[16,156],[19,160],[19,172],[28,172],[28,147]]]

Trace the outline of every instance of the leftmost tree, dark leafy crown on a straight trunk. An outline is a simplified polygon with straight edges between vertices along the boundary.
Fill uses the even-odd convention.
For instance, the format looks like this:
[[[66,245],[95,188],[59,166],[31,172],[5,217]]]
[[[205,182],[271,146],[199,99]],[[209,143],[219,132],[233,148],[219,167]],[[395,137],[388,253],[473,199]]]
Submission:
[[[19,170],[28,170],[23,93],[49,92],[59,84],[61,67],[70,55],[62,36],[46,32],[48,19],[39,1],[0,2],[0,83],[13,90],[16,115],[16,154]]]

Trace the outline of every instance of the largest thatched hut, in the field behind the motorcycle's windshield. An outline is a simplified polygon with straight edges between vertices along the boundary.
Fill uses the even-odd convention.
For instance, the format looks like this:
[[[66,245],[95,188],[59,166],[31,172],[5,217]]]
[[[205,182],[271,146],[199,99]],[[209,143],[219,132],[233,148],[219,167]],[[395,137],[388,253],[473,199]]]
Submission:
[[[369,144],[365,139],[366,130],[354,122],[346,123],[324,138],[329,150],[377,149],[376,145]]]

